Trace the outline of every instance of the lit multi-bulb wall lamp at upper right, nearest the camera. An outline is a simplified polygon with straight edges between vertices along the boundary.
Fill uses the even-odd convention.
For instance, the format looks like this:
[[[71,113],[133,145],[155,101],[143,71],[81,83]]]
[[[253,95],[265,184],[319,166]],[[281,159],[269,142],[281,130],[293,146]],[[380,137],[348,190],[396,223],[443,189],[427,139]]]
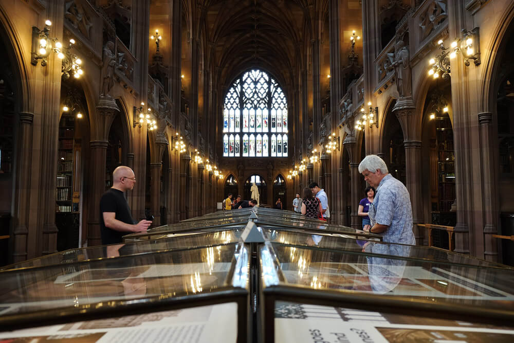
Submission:
[[[475,65],[481,63],[479,28],[476,27],[472,31],[463,29],[462,32],[463,39],[454,40],[449,48],[445,47],[443,40],[437,42],[441,53],[430,59],[428,75],[434,79],[437,79],[439,76],[443,78],[450,77],[450,60],[454,59],[458,54],[462,54],[465,66],[469,66],[469,60],[473,60]]]

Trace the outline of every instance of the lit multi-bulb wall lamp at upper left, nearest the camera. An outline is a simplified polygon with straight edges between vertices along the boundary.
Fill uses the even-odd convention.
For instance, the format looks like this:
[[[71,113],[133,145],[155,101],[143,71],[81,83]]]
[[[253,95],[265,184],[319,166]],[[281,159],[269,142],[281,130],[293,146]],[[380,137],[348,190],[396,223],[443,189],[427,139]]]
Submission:
[[[32,58],[30,63],[38,65],[38,60],[41,60],[41,65],[44,67],[48,63],[48,56],[53,51],[57,54],[57,57],[62,60],[62,78],[67,80],[69,74],[73,73],[76,78],[79,78],[84,71],[81,68],[82,61],[69,50],[72,45],[75,44],[74,39],[69,40],[68,47],[63,47],[62,43],[57,38],[50,38],[50,26],[52,23],[47,20],[45,22],[45,28],[40,30],[39,28],[32,26]]]

